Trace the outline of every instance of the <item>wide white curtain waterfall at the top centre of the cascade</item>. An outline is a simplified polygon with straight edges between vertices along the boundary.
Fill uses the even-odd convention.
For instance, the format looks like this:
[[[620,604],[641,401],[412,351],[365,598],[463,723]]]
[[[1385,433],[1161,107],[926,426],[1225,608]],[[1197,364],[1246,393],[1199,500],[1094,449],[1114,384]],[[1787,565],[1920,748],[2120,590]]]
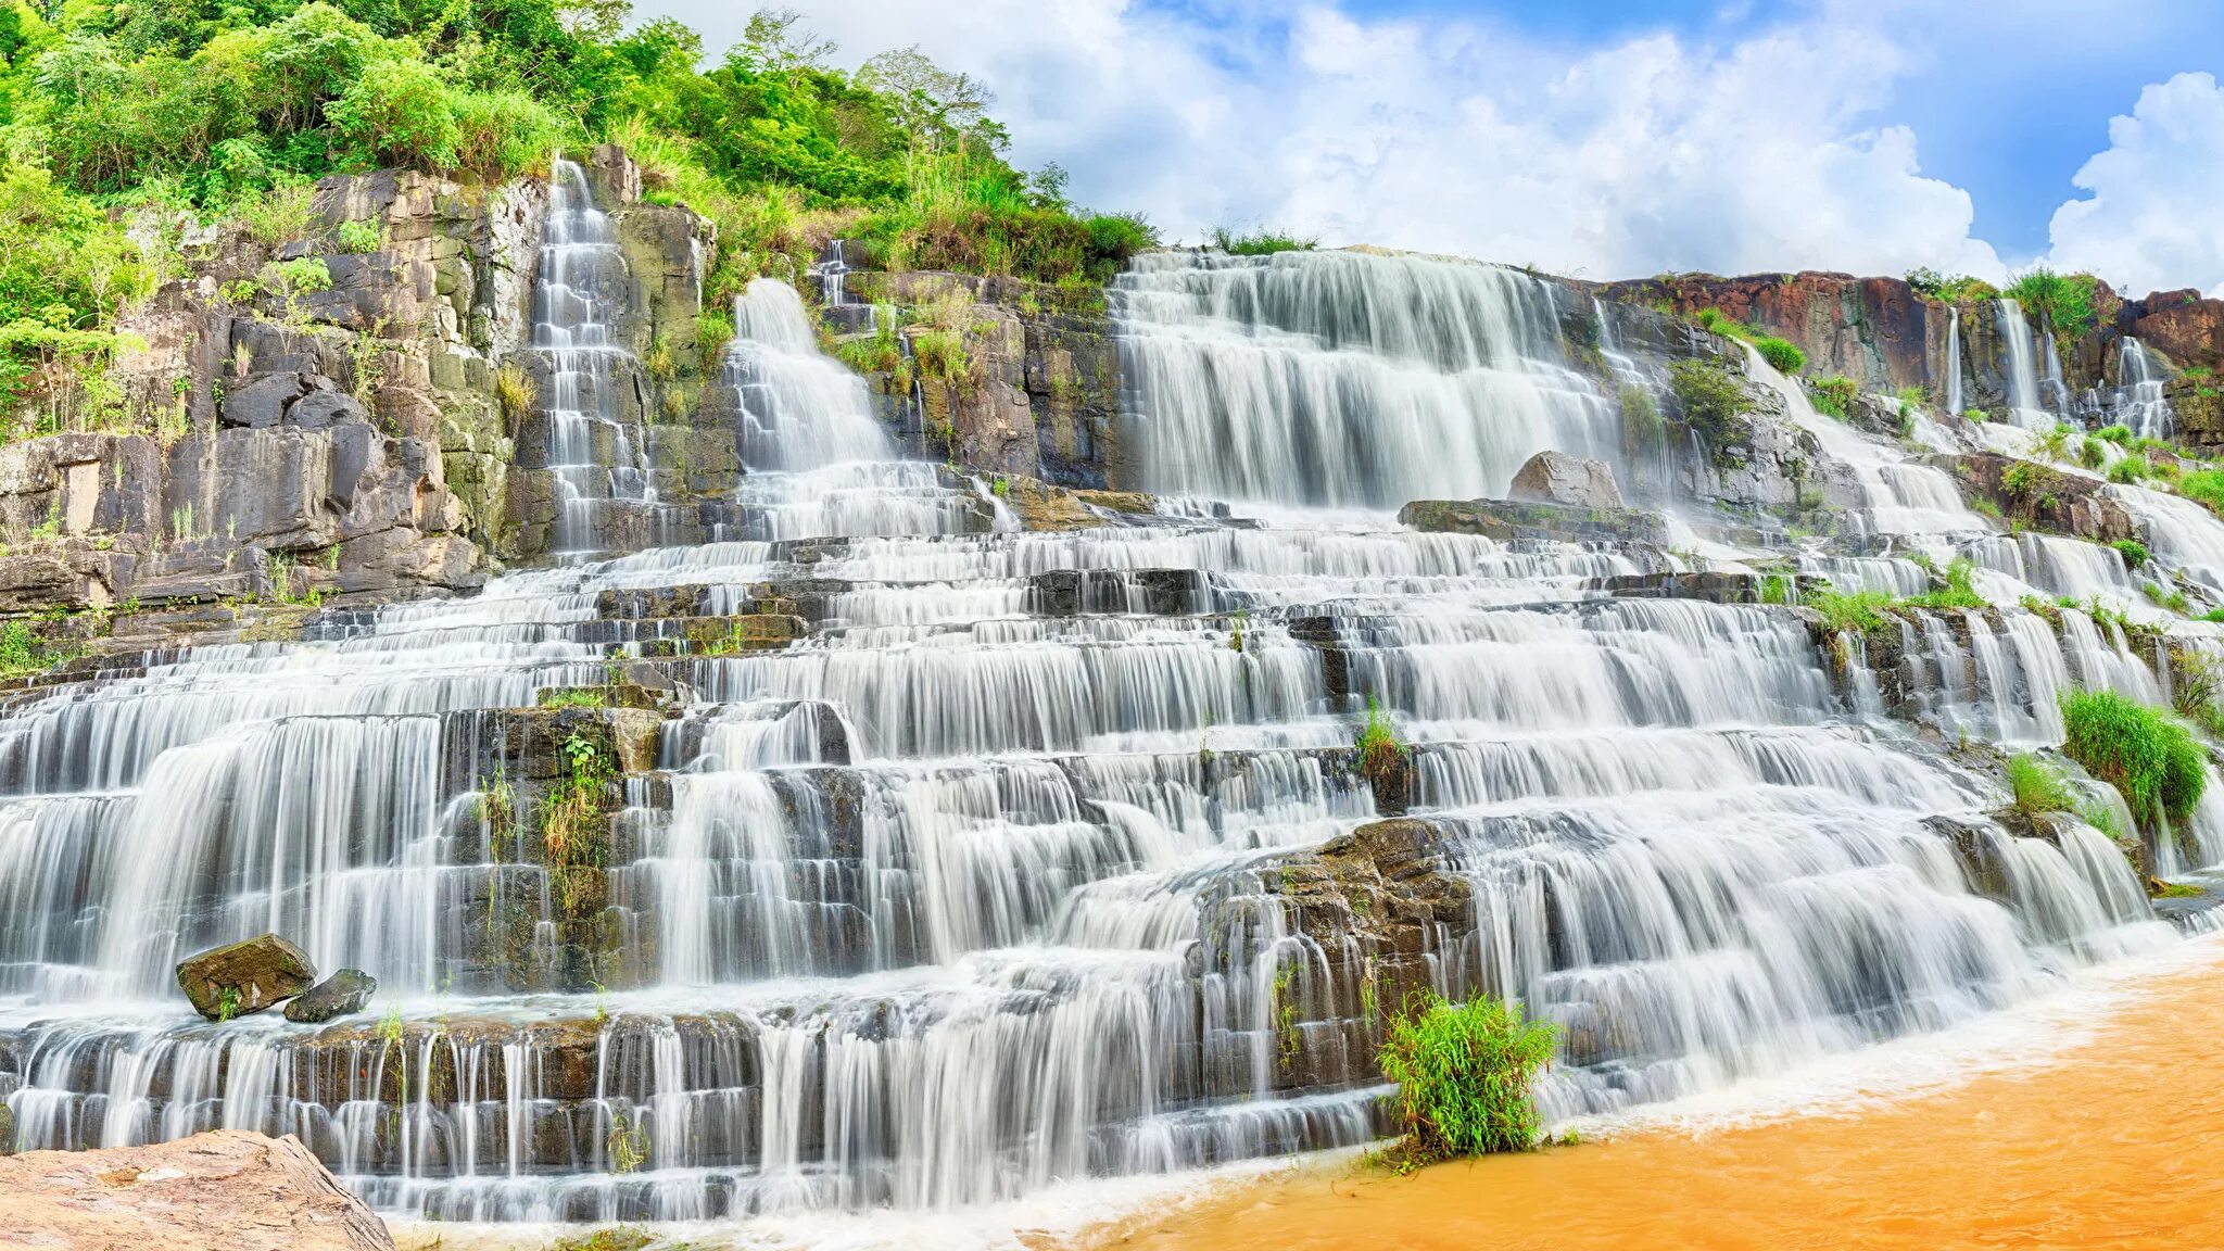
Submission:
[[[1517,269],[1150,254],[1112,301],[1150,490],[1394,510],[1506,494],[1546,447],[1621,461],[1555,289]]]

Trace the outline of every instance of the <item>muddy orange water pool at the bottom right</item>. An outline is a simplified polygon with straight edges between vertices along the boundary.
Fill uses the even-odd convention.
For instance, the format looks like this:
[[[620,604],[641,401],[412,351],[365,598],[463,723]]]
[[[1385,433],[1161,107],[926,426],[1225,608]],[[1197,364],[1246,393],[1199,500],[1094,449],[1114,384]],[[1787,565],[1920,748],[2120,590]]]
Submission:
[[[2224,964],[2162,973],[2035,1068],[1846,1115],[1641,1131],[1388,1178],[1285,1171],[1092,1247],[2224,1247]]]

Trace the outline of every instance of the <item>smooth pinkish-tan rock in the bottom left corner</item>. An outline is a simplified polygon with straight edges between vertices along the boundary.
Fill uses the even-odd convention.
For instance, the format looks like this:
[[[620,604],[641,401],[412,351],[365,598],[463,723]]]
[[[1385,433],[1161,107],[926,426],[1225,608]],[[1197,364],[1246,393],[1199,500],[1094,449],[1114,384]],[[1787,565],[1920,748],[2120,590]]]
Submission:
[[[0,1249],[394,1251],[298,1137],[236,1129],[0,1160]]]

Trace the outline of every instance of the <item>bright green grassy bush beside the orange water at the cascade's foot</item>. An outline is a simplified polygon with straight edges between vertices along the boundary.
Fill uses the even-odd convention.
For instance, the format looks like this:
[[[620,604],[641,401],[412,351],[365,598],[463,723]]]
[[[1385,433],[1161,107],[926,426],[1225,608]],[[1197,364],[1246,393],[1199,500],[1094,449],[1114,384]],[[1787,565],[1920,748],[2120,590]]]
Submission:
[[[1557,1026],[1526,1022],[1488,995],[1466,1004],[1428,995],[1392,1019],[1377,1062],[1399,1086],[1399,1169],[1537,1146],[1530,1082],[1557,1042]]]

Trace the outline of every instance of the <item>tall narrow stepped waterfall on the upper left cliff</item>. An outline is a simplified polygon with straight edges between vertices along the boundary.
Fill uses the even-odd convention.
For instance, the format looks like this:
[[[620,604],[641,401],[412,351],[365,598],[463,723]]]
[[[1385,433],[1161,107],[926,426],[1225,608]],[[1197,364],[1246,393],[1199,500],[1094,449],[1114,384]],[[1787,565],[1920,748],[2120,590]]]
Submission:
[[[641,401],[629,385],[641,363],[609,338],[605,305],[627,287],[625,254],[609,216],[596,209],[587,171],[549,165],[549,209],[534,285],[532,352],[547,358],[547,465],[556,474],[556,550],[598,548],[612,501],[656,503],[647,474]]]

